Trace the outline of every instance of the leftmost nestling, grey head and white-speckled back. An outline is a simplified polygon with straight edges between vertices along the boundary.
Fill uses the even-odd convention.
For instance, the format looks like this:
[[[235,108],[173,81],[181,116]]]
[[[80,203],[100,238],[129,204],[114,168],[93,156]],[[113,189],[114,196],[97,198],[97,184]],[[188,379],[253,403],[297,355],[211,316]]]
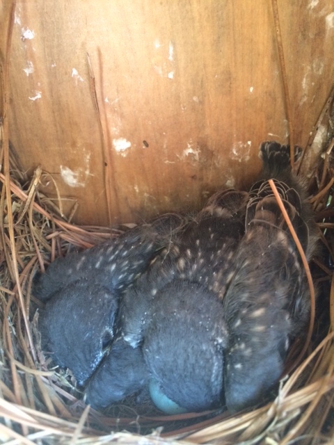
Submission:
[[[38,325],[42,348],[69,368],[79,385],[93,374],[115,336],[122,292],[184,223],[168,214],[79,253],[57,259],[35,280],[33,293],[46,302]]]

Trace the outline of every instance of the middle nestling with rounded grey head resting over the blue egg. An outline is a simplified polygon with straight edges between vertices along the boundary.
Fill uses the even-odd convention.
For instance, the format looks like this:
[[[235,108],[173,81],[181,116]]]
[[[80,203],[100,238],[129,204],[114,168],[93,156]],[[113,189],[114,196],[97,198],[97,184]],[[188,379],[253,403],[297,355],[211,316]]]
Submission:
[[[122,299],[123,341],[141,351],[152,399],[166,412],[180,412],[180,407],[200,411],[221,403],[228,332],[220,300],[244,234],[247,200],[246,192],[214,195]],[[122,363],[124,357],[118,359]],[[121,377],[111,371],[118,368],[115,357],[104,362],[109,366],[100,367],[88,384],[88,400],[95,407],[118,400],[114,388]],[[147,385],[148,378],[141,381]],[[126,385],[125,377],[123,383],[123,394],[132,394],[132,380]]]

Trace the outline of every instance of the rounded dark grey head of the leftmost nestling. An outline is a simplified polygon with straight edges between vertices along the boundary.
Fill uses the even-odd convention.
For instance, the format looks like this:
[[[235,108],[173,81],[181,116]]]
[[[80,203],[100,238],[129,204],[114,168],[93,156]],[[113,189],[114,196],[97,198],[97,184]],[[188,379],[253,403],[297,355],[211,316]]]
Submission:
[[[79,385],[92,375],[113,340],[118,296],[81,279],[52,296],[40,313],[42,348],[69,368]]]

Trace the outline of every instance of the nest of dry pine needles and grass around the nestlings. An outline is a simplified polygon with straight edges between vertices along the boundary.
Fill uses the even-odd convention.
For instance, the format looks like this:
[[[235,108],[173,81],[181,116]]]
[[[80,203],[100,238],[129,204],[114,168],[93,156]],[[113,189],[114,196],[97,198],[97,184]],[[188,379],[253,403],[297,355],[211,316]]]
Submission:
[[[312,177],[310,201],[321,230],[321,254],[312,264],[319,289],[313,334],[298,366],[280,382],[273,401],[231,416],[223,408],[201,414],[163,416],[145,405],[116,405],[108,412],[87,406],[70,371],[50,369],[40,349],[31,307],[33,275],[72,248],[88,248],[126,227],[83,227],[63,216],[61,197],[38,190],[45,173],[28,179],[14,159],[0,174],[0,440],[6,444],[324,444],[334,436],[334,175],[331,131],[333,93],[305,150],[304,173]],[[317,127],[328,124],[315,150]],[[6,147],[5,147],[6,149]],[[10,151],[8,152],[8,155]],[[315,165],[316,170],[310,166]],[[6,152],[5,152],[6,161]],[[305,167],[306,165],[306,167]],[[10,171],[10,172],[9,172]],[[138,411],[140,410],[140,411]],[[150,414],[150,415],[148,415]],[[145,436],[145,439],[144,437]]]

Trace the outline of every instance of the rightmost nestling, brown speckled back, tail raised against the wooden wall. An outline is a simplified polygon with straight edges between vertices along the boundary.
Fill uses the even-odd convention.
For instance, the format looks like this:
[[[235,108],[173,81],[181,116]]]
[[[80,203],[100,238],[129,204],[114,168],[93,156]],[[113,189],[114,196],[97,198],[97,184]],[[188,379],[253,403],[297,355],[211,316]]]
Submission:
[[[274,178],[308,260],[318,237],[312,209],[303,182],[291,171],[289,145],[265,142],[260,154],[262,179],[250,190],[246,234],[223,300],[229,332],[225,402],[232,411],[258,403],[278,382],[289,344],[306,334],[310,312],[301,257],[267,179]],[[299,147],[295,154],[301,154]]]

